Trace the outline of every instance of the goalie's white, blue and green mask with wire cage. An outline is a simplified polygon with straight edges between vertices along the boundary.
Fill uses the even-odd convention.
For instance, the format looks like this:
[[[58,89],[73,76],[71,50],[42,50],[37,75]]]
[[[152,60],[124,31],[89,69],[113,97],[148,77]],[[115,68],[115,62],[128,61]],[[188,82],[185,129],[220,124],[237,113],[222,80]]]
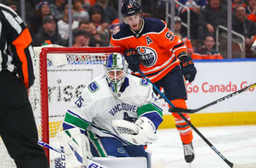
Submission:
[[[119,53],[110,54],[103,66],[111,89],[118,93],[127,73],[128,64],[124,56]]]

